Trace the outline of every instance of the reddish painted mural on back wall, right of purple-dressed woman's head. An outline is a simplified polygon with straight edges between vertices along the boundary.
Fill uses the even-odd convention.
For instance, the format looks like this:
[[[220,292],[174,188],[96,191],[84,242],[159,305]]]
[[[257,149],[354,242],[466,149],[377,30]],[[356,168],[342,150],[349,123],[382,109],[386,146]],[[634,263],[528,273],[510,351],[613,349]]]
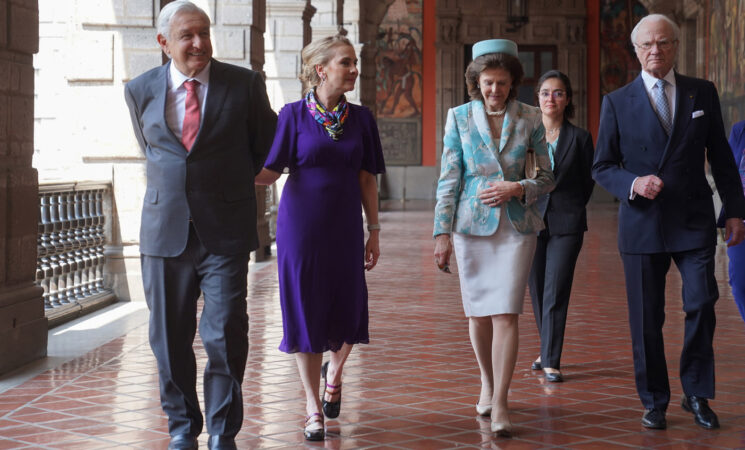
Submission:
[[[419,117],[422,111],[422,0],[396,0],[377,35],[378,117]]]

